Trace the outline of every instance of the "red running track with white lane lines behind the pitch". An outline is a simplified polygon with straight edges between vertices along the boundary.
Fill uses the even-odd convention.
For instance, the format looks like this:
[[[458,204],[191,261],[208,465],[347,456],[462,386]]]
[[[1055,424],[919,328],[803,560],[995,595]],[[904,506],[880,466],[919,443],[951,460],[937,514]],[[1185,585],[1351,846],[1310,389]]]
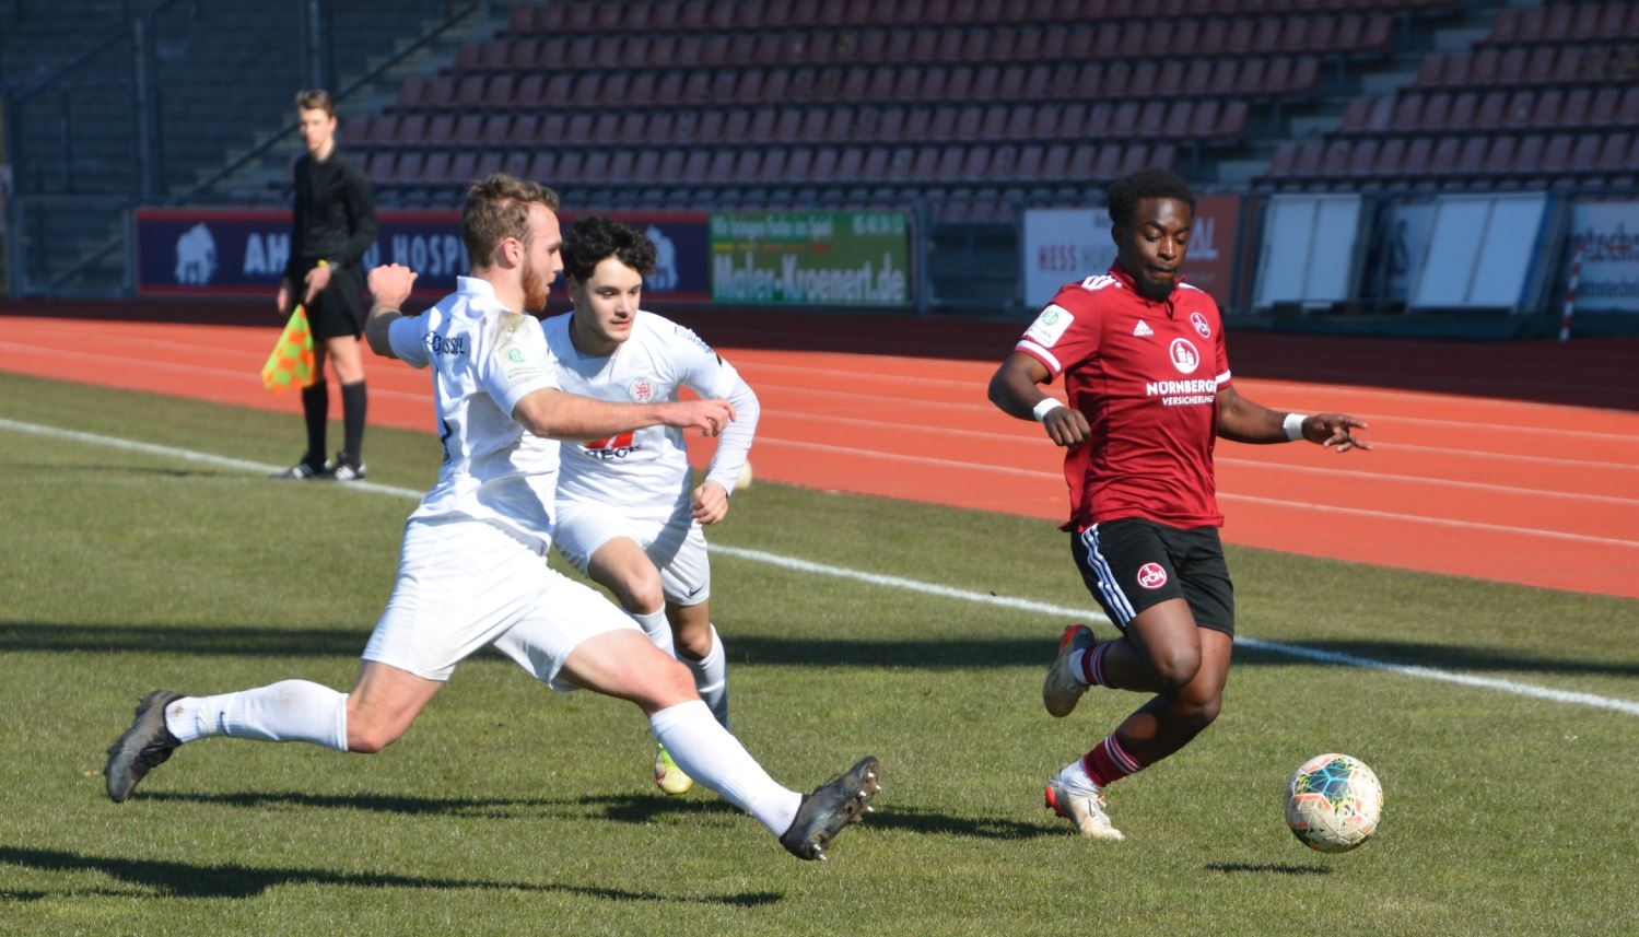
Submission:
[[[762,398],[759,478],[1062,519],[1059,450],[1036,424],[985,400],[1023,323],[792,313],[688,321]],[[0,369],[287,411],[300,446],[297,398],[267,393],[257,377],[274,323],[54,313],[0,315]],[[1224,539],[1639,598],[1636,352],[1634,339],[1233,333],[1242,395],[1278,410],[1354,413],[1372,424],[1365,437],[1377,449],[1339,455],[1219,441]],[[372,424],[431,431],[423,373],[379,359],[367,370]]]

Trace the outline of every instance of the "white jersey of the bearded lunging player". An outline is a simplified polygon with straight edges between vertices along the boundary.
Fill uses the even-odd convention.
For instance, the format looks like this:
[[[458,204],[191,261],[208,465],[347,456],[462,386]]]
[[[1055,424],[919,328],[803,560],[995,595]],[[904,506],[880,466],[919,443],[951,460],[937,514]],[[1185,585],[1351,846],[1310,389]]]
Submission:
[[[444,444],[438,483],[410,518],[487,521],[546,549],[559,446],[511,416],[529,393],[557,387],[536,319],[502,306],[488,282],[459,277],[436,306],[395,319],[388,339],[406,364],[433,365]]]

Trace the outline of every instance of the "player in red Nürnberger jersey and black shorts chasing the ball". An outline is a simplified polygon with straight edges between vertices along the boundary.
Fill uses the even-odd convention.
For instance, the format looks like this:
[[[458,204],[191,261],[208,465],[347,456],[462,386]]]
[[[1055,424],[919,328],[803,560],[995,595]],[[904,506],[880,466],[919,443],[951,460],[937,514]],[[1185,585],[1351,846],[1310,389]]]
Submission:
[[[1216,437],[1370,449],[1342,413],[1257,405],[1231,383],[1218,303],[1183,283],[1195,195],[1146,169],[1110,187],[1116,262],[1059,290],[990,378],[990,400],[1067,449],[1070,552],[1119,636],[1065,629],[1042,683],[1052,716],[1090,685],[1152,693],[1047,781],[1047,806],[1083,835],[1121,839],[1105,788],[1165,758],[1218,716],[1234,641],[1213,482]],[[1069,406],[1041,385],[1064,375]]]

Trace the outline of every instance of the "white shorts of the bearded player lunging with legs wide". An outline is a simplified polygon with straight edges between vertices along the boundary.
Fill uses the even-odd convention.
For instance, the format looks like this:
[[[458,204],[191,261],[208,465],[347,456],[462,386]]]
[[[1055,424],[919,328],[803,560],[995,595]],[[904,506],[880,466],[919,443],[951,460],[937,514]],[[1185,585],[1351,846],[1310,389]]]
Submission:
[[[364,659],[449,680],[487,644],[552,690],[588,637],[638,624],[600,591],[552,570],[539,544],[482,521],[405,524],[398,582]]]

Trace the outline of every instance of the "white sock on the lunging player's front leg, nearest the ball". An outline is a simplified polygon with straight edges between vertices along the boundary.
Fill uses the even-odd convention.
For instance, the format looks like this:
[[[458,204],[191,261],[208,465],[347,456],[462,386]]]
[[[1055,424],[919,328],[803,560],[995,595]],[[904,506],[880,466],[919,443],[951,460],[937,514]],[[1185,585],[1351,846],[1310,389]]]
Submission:
[[[792,827],[803,796],[762,770],[739,739],[711,717],[705,703],[690,699],[649,717],[649,731],[690,778],[723,794],[774,835]]]

